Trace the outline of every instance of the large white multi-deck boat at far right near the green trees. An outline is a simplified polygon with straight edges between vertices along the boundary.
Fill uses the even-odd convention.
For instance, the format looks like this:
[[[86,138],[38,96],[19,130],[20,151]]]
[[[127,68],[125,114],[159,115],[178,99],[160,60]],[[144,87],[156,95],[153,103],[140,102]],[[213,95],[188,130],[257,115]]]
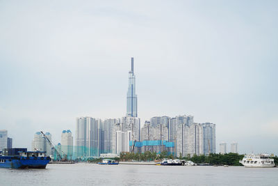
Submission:
[[[274,159],[271,159],[271,156],[268,154],[260,155],[245,155],[243,160],[239,161],[240,164],[243,164],[245,167],[273,167],[275,166]]]

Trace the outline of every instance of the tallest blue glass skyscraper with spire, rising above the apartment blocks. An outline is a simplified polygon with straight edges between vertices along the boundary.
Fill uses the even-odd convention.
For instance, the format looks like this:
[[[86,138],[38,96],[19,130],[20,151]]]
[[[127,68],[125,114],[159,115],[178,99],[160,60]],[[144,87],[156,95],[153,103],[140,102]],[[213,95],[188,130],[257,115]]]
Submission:
[[[133,71],[133,57],[131,58],[131,71],[129,71],[129,88],[126,94],[126,116],[137,117],[137,95],[135,88],[135,75]]]

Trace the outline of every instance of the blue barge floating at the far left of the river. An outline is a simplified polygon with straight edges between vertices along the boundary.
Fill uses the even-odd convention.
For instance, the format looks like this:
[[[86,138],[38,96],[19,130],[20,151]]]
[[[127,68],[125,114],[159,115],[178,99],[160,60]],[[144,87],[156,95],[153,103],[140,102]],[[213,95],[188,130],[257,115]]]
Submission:
[[[27,148],[4,148],[0,167],[14,169],[45,169],[50,157],[42,151],[27,151]]]

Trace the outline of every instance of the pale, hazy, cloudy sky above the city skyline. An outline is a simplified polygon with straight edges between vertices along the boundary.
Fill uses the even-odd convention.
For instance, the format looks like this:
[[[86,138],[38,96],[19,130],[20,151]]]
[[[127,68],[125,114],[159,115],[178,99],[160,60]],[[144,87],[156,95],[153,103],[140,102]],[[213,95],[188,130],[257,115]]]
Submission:
[[[134,57],[141,127],[216,124],[239,153],[278,155],[278,1],[0,0],[0,129],[75,136],[76,117],[121,118]]]

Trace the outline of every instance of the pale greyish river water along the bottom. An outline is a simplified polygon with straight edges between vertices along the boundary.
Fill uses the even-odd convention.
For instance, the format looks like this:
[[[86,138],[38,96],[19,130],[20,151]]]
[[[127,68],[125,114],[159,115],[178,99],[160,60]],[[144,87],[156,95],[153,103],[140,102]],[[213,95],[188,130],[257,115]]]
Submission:
[[[2,168],[0,185],[278,185],[278,168],[48,164]]]

